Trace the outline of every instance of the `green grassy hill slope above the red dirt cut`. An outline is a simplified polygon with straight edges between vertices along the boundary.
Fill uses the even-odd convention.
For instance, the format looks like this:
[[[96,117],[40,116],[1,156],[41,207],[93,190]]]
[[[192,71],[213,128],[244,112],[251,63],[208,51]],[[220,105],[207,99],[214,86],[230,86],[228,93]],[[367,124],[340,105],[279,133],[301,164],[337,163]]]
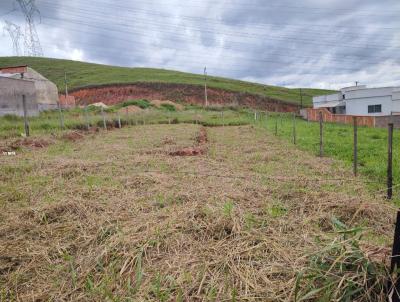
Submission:
[[[67,72],[70,89],[90,85],[135,82],[162,82],[204,85],[203,75],[172,70],[127,68],[49,58],[0,57],[0,67],[13,65],[29,65],[33,69],[43,74],[49,80],[56,83],[60,91],[65,89],[65,71]],[[299,89],[262,85],[212,76],[208,77],[208,85],[212,88],[260,94],[282,101],[300,103]],[[332,91],[308,88],[303,89],[303,104],[310,105],[313,96],[327,94],[330,92]]]

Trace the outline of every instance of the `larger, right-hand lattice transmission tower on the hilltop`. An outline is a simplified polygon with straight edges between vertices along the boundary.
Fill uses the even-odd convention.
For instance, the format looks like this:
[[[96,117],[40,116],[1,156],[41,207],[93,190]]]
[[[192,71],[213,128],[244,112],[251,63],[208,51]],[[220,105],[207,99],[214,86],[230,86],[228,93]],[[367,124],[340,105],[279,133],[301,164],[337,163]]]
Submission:
[[[35,26],[35,14],[40,17],[40,11],[35,5],[35,0],[16,0],[25,15],[24,46],[25,55],[32,57],[43,57],[42,46]]]

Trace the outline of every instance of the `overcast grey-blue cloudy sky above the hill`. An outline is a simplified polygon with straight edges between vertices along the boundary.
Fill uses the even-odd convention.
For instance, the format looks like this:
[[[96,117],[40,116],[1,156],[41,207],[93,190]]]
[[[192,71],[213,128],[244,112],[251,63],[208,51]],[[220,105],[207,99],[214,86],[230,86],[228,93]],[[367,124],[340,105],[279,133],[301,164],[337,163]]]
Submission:
[[[28,2],[28,0],[25,0]],[[36,0],[46,57],[288,87],[400,86],[399,0]],[[15,0],[0,20],[25,32]],[[0,35],[0,56],[13,55]],[[20,46],[24,51],[23,38]]]

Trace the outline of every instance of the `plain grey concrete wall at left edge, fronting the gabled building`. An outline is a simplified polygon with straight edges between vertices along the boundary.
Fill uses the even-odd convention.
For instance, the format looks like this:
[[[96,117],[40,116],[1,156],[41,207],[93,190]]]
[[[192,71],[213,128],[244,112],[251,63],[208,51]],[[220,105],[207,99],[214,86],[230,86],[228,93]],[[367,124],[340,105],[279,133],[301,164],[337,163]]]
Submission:
[[[23,116],[22,95],[26,96],[29,116],[39,114],[35,85],[31,81],[0,77],[0,116],[15,114]]]

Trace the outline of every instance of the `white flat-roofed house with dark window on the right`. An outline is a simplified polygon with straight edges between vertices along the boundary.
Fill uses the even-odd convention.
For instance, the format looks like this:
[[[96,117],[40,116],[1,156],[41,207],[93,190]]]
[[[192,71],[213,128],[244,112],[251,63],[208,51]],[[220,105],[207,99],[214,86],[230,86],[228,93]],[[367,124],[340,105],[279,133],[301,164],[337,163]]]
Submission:
[[[333,114],[384,116],[400,114],[400,87],[353,86],[340,92],[313,98],[314,109]]]

